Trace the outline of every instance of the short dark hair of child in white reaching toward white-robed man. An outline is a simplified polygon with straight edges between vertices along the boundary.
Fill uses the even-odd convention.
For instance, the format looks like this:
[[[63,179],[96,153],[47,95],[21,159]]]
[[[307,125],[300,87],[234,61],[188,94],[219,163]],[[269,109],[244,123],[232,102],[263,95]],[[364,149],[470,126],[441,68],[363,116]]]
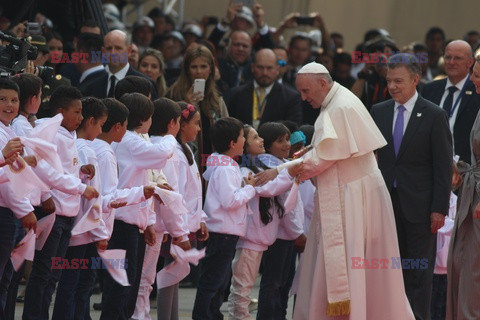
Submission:
[[[218,153],[224,153],[230,149],[230,142],[237,141],[243,123],[235,118],[220,118],[210,127],[210,139],[213,149]]]

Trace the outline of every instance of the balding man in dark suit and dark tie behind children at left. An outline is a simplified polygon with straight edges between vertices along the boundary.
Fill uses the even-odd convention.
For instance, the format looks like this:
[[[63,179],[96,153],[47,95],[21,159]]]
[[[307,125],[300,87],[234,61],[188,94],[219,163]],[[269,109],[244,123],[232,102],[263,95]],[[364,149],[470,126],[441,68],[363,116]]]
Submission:
[[[126,76],[140,76],[149,79],[143,73],[136,71],[128,63],[128,55],[131,46],[128,44],[127,34],[120,30],[110,31],[103,40],[102,53],[109,54],[108,64],[105,67],[106,72],[98,72],[88,81],[83,81],[79,86],[85,96],[97,98],[106,98],[115,96],[116,84]],[[157,90],[151,79],[153,86],[152,99],[157,98]]]

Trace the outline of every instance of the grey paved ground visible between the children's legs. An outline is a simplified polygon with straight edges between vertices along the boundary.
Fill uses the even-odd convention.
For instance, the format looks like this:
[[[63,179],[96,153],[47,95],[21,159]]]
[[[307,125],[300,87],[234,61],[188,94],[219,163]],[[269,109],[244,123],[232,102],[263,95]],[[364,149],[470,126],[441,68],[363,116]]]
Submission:
[[[253,292],[252,292],[252,297],[253,298],[258,297],[258,283],[259,283],[259,279],[257,279],[257,283],[253,288]],[[23,286],[21,286],[20,289],[19,289],[19,292],[22,292],[22,291],[23,291]],[[196,289],[180,288],[180,290],[179,290],[179,302],[178,302],[180,320],[192,319],[192,308],[193,308],[193,301],[195,300],[195,293],[196,293]],[[93,305],[93,303],[100,302],[100,300],[101,300],[101,295],[96,294],[96,295],[92,296],[91,303]],[[288,317],[287,318],[289,318],[289,319],[291,319],[292,305],[293,305],[293,299],[291,298],[290,301],[289,301],[289,306],[288,306]],[[50,307],[50,316],[51,316],[52,309],[53,309],[53,303],[52,303],[52,306]],[[17,307],[16,307],[16,311],[15,311],[15,319],[20,320],[22,318],[22,310],[23,310],[23,303],[17,303]],[[227,303],[223,304],[221,310],[223,311],[224,315],[227,314]],[[91,311],[90,311],[90,315],[91,315],[92,319],[94,319],[94,320],[99,319],[100,318],[100,311],[95,311],[92,308]],[[157,309],[156,309],[156,306],[155,306],[155,301],[152,301],[152,310],[150,311],[150,315],[151,315],[152,319],[157,318]],[[252,312],[252,317],[253,318],[256,317],[256,312],[255,311]],[[225,319],[226,319],[226,317],[225,317]]]

